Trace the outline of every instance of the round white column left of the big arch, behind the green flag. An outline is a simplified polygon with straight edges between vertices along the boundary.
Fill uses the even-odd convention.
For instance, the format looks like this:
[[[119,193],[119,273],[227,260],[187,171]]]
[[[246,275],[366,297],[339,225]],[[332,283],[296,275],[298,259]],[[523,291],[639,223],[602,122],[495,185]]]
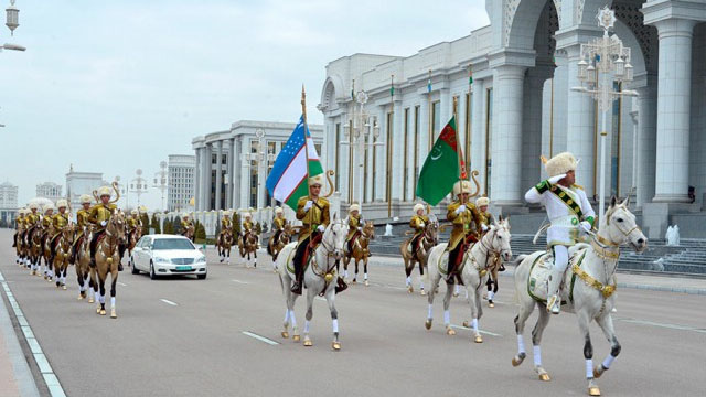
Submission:
[[[501,65],[493,71],[493,131],[491,200],[498,206],[520,206],[522,192],[522,106],[524,66]]]

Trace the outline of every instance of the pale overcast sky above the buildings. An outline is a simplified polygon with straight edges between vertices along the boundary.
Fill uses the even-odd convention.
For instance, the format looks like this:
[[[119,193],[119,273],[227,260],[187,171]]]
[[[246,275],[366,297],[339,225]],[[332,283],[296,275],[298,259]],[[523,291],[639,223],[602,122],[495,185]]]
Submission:
[[[7,6],[9,0],[0,0]],[[484,0],[18,0],[0,26],[0,183],[20,205],[69,164],[151,180],[168,154],[240,119],[311,122],[325,65],[356,52],[408,56],[488,24]],[[4,7],[2,7],[4,8]],[[4,13],[2,13],[4,14]],[[4,19],[4,18],[3,18]],[[157,190],[142,197],[150,208]],[[132,197],[130,198],[133,200]]]

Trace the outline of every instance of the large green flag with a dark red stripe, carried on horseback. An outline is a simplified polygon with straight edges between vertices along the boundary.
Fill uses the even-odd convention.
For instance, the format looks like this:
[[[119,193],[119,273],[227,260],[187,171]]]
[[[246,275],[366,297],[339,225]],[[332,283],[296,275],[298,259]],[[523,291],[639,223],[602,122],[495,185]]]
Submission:
[[[417,196],[430,205],[437,205],[443,200],[459,180],[461,150],[456,138],[454,116],[441,130],[419,172]]]

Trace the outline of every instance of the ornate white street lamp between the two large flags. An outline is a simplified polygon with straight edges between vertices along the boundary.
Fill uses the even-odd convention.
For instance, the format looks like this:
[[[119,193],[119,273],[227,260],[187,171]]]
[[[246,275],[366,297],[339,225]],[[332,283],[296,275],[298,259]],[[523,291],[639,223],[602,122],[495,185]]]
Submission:
[[[347,140],[341,142],[341,144],[351,146],[355,150],[357,155],[360,169],[359,203],[361,205],[363,205],[363,201],[365,198],[363,197],[363,183],[365,183],[365,175],[363,175],[363,159],[365,157],[365,150],[367,148],[383,146],[383,142],[377,141],[377,139],[379,138],[379,125],[377,124],[375,117],[373,117],[365,109],[367,99],[367,94],[364,90],[360,90],[355,95],[353,112],[349,121],[343,125],[343,135]],[[374,158],[373,161],[375,161]]]

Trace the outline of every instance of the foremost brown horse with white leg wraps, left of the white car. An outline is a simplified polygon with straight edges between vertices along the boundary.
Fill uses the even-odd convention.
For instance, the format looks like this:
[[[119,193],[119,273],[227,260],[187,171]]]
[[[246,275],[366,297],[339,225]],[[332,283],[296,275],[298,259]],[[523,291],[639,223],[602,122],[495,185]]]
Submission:
[[[115,311],[116,285],[118,282],[118,264],[120,254],[118,246],[125,242],[125,214],[115,210],[106,225],[104,237],[96,244],[96,272],[100,292],[96,313],[106,315],[106,279],[110,273],[110,318],[117,319]]]

